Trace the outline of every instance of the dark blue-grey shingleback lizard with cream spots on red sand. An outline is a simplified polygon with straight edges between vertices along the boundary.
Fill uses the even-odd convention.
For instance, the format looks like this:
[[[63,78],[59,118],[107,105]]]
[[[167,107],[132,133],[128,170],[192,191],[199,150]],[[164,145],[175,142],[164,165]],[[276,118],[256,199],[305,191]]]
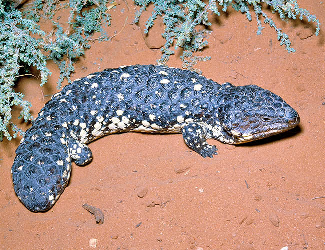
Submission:
[[[88,163],[86,144],[112,133],[182,133],[205,158],[217,154],[206,139],[240,144],[299,122],[281,97],[256,85],[220,85],[165,66],[105,69],[76,79],[41,109],[16,150],[14,190],[29,210],[48,210],[68,183],[71,161]]]

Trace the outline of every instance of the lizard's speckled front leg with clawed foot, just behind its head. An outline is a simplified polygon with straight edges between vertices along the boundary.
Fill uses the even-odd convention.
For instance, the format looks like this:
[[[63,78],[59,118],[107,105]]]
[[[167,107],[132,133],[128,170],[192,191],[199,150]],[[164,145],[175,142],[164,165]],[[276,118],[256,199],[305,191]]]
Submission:
[[[187,146],[204,158],[207,156],[213,158],[213,155],[218,154],[216,146],[206,142],[204,138],[205,132],[200,124],[195,122],[189,123],[182,128],[181,132]]]

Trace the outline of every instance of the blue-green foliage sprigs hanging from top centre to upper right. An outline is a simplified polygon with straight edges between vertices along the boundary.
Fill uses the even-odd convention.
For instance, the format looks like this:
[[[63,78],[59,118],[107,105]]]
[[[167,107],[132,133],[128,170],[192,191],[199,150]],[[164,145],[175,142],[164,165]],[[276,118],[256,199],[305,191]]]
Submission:
[[[154,20],[158,15],[163,17],[165,32],[162,36],[166,39],[166,43],[161,49],[162,56],[158,59],[159,64],[165,64],[170,55],[174,54],[174,51],[171,49],[174,41],[176,41],[175,49],[182,47],[184,50],[181,56],[181,59],[184,61],[184,67],[192,69],[192,65],[197,62],[197,59],[209,59],[209,57],[198,58],[197,56],[192,56],[192,52],[202,50],[207,46],[207,41],[204,38],[207,37],[210,31],[207,29],[197,31],[196,27],[200,24],[205,26],[211,25],[208,20],[209,12],[220,15],[217,3],[221,6],[223,12],[226,12],[228,7],[231,6],[236,11],[245,13],[249,21],[251,21],[250,12],[253,9],[257,20],[257,35],[261,34],[263,30],[260,20],[262,16],[264,23],[275,29],[280,45],[285,45],[289,53],[295,50],[291,47],[288,35],[277,28],[274,21],[266,15],[262,10],[262,3],[266,3],[272,9],[272,12],[277,12],[284,21],[289,18],[296,19],[299,16],[301,20],[307,18],[308,22],[315,22],[317,24],[315,34],[319,34],[319,20],[307,10],[300,8],[296,0],[209,0],[207,4],[201,0],[134,0],[134,2],[141,6],[135,15],[135,23],[139,21],[139,17],[146,10],[147,6],[150,3],[154,4],[152,15],[146,22],[145,33],[153,26]]]

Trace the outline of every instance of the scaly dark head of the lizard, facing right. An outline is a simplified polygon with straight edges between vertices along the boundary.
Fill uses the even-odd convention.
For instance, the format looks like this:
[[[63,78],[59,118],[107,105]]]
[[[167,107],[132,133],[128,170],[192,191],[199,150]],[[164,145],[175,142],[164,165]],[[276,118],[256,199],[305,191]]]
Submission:
[[[256,85],[222,85],[218,118],[222,128],[240,144],[282,133],[300,122],[299,114],[281,97]]]

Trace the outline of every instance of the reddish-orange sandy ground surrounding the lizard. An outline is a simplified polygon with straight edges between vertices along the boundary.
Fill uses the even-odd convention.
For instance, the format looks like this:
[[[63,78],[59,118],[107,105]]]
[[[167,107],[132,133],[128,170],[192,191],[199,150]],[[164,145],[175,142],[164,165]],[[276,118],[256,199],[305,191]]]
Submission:
[[[324,2],[298,2],[325,23]],[[148,48],[141,28],[131,24],[132,2],[128,7],[123,0],[117,3],[107,32],[118,33],[128,17],[125,28],[109,42],[93,43],[73,79],[160,58],[160,50]],[[270,27],[257,36],[255,19],[248,22],[230,11],[211,16],[214,32],[201,55],[212,60],[197,67],[217,82],[256,84],[280,95],[300,114],[297,128],[242,146],[209,140],[219,149],[213,159],[192,152],[180,134],[106,136],[90,144],[90,164],[73,163],[68,186],[45,213],[30,212],[15,195],[10,168],[21,138],[4,140],[0,248],[92,249],[89,241],[97,239],[97,249],[325,249],[325,199],[313,199],[325,195],[324,31],[315,36],[314,24],[273,17],[296,53],[288,54]],[[50,22],[41,26],[51,29]],[[161,27],[150,31],[155,44],[159,33]],[[181,66],[179,53],[169,66]],[[57,92],[58,70],[53,63],[49,67],[53,74],[43,88],[34,78],[22,78],[17,86],[31,101],[35,117]],[[30,126],[13,121],[24,129]],[[84,203],[103,212],[103,224]]]

